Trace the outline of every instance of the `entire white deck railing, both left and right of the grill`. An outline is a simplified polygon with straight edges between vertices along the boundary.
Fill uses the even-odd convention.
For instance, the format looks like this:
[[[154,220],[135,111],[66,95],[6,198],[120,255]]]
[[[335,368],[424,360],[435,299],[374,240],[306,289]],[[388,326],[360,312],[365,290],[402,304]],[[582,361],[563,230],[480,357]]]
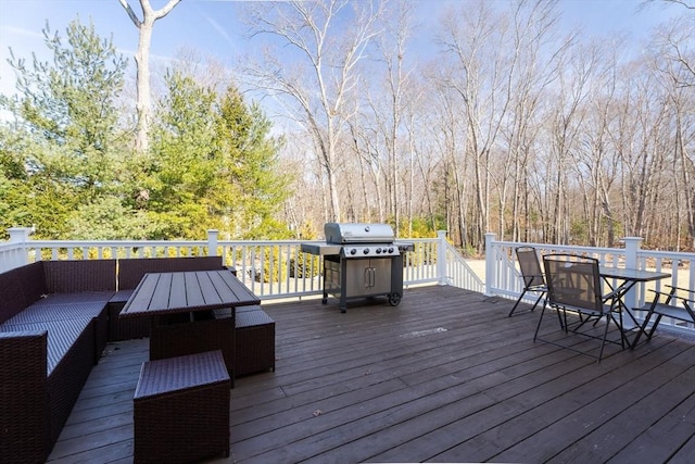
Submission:
[[[239,278],[262,300],[320,294],[323,288],[321,259],[303,253],[302,242],[296,240],[219,240],[216,230],[210,230],[206,240],[31,240],[31,229],[13,228],[9,231],[10,240],[0,243],[0,272],[38,260],[216,254],[222,256],[225,265],[236,267]],[[642,250],[640,238],[626,238],[624,248],[592,248],[496,241],[494,234],[488,234],[484,284],[447,242],[445,231],[440,231],[437,238],[403,241],[412,241],[415,246],[404,256],[405,287],[452,285],[488,296],[516,299],[521,293],[521,278],[514,249],[530,244],[541,254],[578,253],[597,258],[606,265],[654,268],[671,274],[669,279],[636,286],[628,294],[627,303],[631,308],[639,308],[650,298],[647,293],[649,288],[661,289],[668,284],[691,291],[695,289],[695,253]]]

